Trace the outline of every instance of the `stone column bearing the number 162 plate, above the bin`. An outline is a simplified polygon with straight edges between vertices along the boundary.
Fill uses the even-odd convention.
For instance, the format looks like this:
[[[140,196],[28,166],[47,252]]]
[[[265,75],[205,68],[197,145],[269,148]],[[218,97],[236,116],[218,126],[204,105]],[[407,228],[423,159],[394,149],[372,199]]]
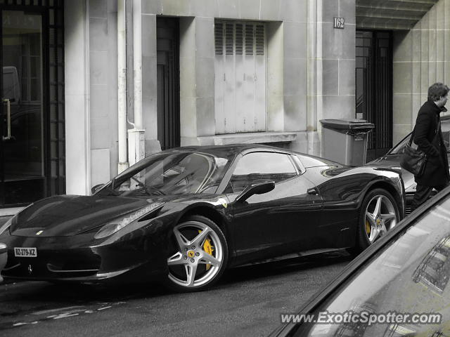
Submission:
[[[308,134],[308,152],[319,154],[319,120],[355,117],[355,0],[308,0],[307,15],[307,131],[319,131]]]

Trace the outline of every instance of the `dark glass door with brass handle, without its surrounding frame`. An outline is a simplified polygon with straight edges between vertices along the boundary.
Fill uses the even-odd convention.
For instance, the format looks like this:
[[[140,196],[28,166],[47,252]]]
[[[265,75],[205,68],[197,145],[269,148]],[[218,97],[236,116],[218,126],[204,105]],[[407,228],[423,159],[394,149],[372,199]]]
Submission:
[[[1,11],[1,203],[45,195],[42,15]]]

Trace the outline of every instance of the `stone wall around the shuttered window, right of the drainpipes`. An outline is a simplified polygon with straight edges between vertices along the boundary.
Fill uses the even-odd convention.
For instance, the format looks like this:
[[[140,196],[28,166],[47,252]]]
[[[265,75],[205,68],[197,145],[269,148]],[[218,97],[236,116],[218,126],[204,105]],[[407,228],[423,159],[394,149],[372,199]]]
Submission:
[[[354,13],[355,0],[143,1],[143,18],[181,18],[181,144],[215,135],[214,86],[205,85],[214,84],[214,19],[260,20],[267,27],[267,131],[295,132],[293,149],[320,154],[319,119],[354,117]],[[338,16],[345,29],[333,29]],[[143,44],[156,48],[152,29]],[[155,67],[146,67],[143,77],[155,82]],[[152,123],[155,95],[144,111]]]

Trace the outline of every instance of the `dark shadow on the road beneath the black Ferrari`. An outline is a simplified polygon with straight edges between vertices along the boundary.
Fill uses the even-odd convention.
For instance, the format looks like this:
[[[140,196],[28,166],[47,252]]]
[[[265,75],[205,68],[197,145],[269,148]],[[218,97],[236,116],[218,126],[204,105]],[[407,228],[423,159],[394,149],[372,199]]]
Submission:
[[[321,253],[312,256],[300,256],[270,263],[248,265],[226,270],[216,288],[228,288],[239,282],[257,280],[259,278],[284,275],[286,273],[298,272],[300,270],[311,270],[316,267],[324,267],[336,263],[349,263],[352,260],[345,251],[333,253]],[[8,296],[8,287],[15,284],[0,285],[6,293],[2,296],[2,302],[11,300],[26,301],[28,303],[92,303],[98,301],[112,302],[131,300],[134,298],[153,298],[171,295],[173,292],[165,289],[160,284],[51,284],[47,282],[23,282],[18,284],[21,289],[15,291],[11,297]],[[213,287],[213,289],[214,289]],[[36,310],[36,308],[34,308]],[[12,313],[6,313],[11,315]],[[5,315],[0,312],[0,316]]]

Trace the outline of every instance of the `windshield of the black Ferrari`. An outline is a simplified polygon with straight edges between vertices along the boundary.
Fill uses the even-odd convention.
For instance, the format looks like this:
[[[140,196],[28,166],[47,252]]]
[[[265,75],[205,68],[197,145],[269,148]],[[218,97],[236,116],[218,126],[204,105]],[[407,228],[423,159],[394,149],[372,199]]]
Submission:
[[[231,158],[200,152],[153,154],[124,171],[98,194],[165,195],[215,193]]]

